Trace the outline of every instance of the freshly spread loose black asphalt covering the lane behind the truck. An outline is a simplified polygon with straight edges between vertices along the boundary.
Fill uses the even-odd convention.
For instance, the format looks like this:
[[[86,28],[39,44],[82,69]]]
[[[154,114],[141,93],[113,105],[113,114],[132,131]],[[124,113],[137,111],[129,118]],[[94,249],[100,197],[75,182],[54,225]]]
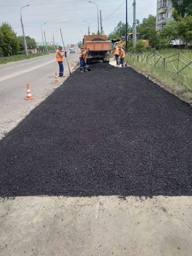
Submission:
[[[0,141],[0,196],[191,196],[190,106],[132,68],[90,68]]]

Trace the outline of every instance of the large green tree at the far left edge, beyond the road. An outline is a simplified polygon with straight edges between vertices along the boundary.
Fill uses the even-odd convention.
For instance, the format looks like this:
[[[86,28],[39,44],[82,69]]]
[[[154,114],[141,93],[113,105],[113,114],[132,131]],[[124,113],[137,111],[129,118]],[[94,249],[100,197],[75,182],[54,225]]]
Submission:
[[[8,22],[3,22],[0,26],[3,33],[3,44],[1,45],[4,56],[11,54],[10,44],[12,48],[12,54],[15,55],[19,51],[19,42],[16,33],[12,29],[12,26]],[[0,36],[2,38],[2,36]],[[2,40],[2,39],[1,39]]]

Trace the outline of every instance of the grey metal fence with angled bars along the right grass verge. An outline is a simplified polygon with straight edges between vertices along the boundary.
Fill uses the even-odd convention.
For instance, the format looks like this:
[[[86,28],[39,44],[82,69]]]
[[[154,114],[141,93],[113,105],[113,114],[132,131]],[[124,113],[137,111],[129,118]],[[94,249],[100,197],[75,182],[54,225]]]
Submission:
[[[164,57],[159,52],[153,51],[149,54],[141,51],[140,53],[133,50],[127,52],[128,58],[134,61],[145,63],[146,65],[153,65],[155,67],[163,68],[164,70],[176,73],[177,76],[185,76],[192,79],[192,60],[178,52],[171,56]]]

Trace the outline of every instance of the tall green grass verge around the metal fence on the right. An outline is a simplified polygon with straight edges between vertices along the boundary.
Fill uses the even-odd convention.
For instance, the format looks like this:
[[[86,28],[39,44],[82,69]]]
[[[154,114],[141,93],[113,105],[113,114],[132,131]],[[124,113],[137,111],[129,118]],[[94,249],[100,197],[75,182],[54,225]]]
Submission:
[[[190,60],[192,60],[192,51],[165,49],[157,51],[158,53],[156,54],[154,54],[153,52],[154,50],[145,52],[145,54],[148,55],[148,64],[147,56],[145,54],[139,54],[139,61],[137,61],[136,54],[132,54],[132,56],[128,57],[126,56],[125,61],[128,60],[128,64],[130,64],[131,66],[139,68],[142,72],[148,74],[148,76],[152,76],[158,81],[162,82],[166,89],[171,89],[171,91],[175,92],[175,94],[184,96],[185,98],[187,97],[188,102],[192,100],[192,63],[190,63]],[[184,56],[179,54],[178,52],[182,53]],[[185,56],[190,60],[188,60]],[[178,57],[180,59],[179,61]],[[163,68],[164,58],[165,69]],[[143,60],[143,62],[141,62],[141,59]],[[184,64],[183,61],[186,64],[190,63],[189,67],[184,68],[186,64]],[[156,66],[154,66],[154,63],[156,63]],[[173,65],[175,66],[175,68],[173,67]],[[184,69],[181,70],[182,68]],[[180,75],[172,72],[177,72],[177,70],[181,70],[179,72]]]

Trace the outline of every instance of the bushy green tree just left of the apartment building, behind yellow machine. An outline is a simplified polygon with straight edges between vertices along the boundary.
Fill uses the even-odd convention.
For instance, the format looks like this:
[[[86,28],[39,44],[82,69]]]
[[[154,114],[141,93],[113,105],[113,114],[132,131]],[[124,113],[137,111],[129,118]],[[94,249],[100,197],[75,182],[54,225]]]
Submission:
[[[137,32],[140,35],[140,39],[149,40],[150,45],[156,45],[156,16],[149,14],[148,18],[144,18],[142,23],[137,26]]]

